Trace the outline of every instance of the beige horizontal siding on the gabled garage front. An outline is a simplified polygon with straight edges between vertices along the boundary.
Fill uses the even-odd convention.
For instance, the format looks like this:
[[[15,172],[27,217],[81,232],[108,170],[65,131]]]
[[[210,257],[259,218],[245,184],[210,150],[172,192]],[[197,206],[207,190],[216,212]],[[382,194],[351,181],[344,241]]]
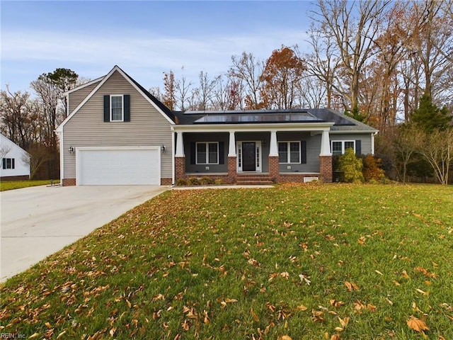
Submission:
[[[104,123],[103,96],[130,94],[130,122]],[[64,179],[76,178],[76,155],[72,147],[160,146],[161,178],[171,178],[171,123],[154,108],[119,72],[115,72],[64,125]]]

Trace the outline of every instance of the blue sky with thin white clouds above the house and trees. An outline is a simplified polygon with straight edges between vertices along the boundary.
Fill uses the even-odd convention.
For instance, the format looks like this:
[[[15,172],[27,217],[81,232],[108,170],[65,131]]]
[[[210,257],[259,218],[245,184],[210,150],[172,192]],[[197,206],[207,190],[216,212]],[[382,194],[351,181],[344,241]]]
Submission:
[[[196,81],[226,72],[231,55],[266,60],[281,45],[306,50],[311,1],[4,1],[1,89],[30,91],[58,67],[96,79],[117,64],[142,86],[163,72]],[[184,71],[181,70],[184,67]]]

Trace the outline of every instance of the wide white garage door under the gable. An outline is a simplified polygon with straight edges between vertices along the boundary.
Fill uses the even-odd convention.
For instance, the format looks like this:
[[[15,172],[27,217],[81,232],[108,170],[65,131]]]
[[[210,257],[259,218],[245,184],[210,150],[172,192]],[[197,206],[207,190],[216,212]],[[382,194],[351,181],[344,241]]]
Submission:
[[[160,185],[159,147],[76,150],[79,186]]]

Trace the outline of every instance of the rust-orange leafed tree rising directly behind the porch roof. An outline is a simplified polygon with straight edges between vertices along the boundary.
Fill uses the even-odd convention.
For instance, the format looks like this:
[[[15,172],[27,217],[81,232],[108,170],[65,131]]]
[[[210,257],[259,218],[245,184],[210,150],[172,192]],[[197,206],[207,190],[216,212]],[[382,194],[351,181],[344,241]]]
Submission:
[[[265,108],[294,108],[298,84],[304,70],[304,62],[294,50],[282,46],[274,50],[266,60],[260,75],[260,96]]]

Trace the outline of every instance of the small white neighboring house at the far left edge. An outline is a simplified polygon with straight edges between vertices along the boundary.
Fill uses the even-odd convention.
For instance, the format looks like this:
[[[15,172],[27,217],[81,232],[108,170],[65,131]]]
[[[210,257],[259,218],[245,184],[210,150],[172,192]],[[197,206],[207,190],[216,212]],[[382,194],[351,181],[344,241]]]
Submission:
[[[0,180],[30,179],[30,154],[14,142],[0,135]]]

